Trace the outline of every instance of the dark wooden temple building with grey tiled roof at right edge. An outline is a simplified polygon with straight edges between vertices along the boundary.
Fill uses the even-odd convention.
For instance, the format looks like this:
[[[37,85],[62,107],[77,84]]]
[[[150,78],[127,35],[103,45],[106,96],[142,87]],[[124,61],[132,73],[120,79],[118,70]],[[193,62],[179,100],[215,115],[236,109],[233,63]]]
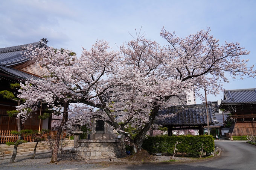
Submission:
[[[256,134],[256,89],[225,90],[218,108],[232,114],[233,123],[225,137]]]

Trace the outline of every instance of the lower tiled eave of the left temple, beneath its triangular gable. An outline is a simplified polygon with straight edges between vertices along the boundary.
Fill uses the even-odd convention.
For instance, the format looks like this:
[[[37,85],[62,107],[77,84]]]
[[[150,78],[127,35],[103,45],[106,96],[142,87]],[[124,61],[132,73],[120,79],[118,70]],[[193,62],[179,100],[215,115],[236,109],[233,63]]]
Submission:
[[[36,80],[40,79],[39,77],[33,76],[31,74],[27,74],[25,72],[18,71],[17,69],[5,67],[5,66],[0,66],[0,71],[3,71],[9,74],[10,77],[13,76],[21,79],[36,79]]]

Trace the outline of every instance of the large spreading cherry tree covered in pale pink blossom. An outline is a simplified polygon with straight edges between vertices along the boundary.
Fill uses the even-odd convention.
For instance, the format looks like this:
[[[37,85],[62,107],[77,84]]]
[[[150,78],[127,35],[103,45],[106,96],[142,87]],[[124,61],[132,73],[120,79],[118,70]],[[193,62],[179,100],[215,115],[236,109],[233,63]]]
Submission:
[[[181,98],[199,89],[219,93],[218,82],[228,81],[225,73],[255,76],[253,66],[247,68],[248,60],[240,60],[249,52],[239,43],[219,45],[209,33],[207,28],[182,39],[163,28],[160,36],[168,42],[166,46],[138,35],[121,45],[120,51],[110,51],[107,42],[97,41],[90,50],[83,49],[79,58],[50,47],[29,47],[27,55],[47,66],[50,75],[22,86],[20,97],[27,101],[19,109],[35,109],[43,100],[54,110],[65,105],[67,112],[69,102],[78,101],[84,105],[73,109],[83,113],[77,121],[99,117],[136,153],[158,110],[175,104],[173,96]],[[125,133],[127,128],[134,129],[135,137]]]

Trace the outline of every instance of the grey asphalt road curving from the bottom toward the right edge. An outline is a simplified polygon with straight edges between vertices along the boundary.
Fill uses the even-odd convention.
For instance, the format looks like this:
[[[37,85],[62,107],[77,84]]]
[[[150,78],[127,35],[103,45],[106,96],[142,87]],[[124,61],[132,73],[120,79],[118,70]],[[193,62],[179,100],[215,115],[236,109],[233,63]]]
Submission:
[[[165,165],[120,165],[105,170],[256,170],[256,146],[245,141],[216,141],[221,156],[203,162]]]

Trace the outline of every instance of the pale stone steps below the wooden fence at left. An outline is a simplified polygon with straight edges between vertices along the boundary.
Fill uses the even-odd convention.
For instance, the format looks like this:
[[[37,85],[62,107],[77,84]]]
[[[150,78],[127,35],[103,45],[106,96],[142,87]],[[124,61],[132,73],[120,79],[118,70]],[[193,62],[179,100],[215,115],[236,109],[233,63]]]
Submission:
[[[65,141],[70,142],[65,147],[74,146],[74,140],[65,140]],[[36,144],[36,142],[28,142],[28,143],[23,143],[23,144],[18,145],[17,155],[24,154],[24,153],[33,153],[35,144]],[[0,156],[1,155],[4,155],[4,156],[12,155],[13,147],[14,147],[13,145],[8,146],[6,144],[0,144]],[[37,151],[40,151],[40,152],[47,151],[47,147],[44,146],[43,144],[41,144],[41,142],[39,142],[37,145]]]

